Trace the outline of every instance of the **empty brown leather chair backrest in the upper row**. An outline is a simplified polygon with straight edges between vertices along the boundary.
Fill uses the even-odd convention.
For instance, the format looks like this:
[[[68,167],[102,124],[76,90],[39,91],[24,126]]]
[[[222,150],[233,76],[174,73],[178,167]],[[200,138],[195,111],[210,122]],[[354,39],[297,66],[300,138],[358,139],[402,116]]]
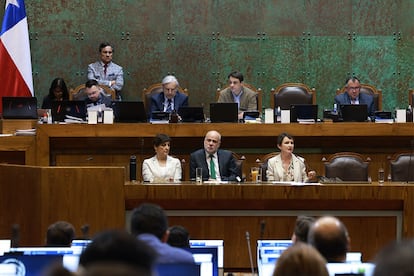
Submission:
[[[284,83],[272,88],[270,106],[274,109],[280,106],[281,109],[290,109],[292,104],[316,104],[316,90],[310,89],[303,83]]]

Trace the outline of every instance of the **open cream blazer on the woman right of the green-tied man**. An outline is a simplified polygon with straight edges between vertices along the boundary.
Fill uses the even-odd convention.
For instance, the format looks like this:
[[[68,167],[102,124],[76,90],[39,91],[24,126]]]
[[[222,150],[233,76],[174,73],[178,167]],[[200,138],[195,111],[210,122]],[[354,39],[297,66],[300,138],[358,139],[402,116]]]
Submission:
[[[293,181],[307,182],[305,160],[302,157],[292,154],[293,161]],[[266,176],[268,181],[283,181],[283,165],[280,154],[267,161]]]

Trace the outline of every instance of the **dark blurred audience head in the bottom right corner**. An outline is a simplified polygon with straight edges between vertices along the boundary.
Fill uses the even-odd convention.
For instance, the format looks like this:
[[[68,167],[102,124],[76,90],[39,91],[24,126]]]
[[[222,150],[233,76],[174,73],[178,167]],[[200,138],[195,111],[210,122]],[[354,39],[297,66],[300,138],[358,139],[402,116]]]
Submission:
[[[381,249],[375,260],[373,275],[414,275],[414,239],[395,241]]]

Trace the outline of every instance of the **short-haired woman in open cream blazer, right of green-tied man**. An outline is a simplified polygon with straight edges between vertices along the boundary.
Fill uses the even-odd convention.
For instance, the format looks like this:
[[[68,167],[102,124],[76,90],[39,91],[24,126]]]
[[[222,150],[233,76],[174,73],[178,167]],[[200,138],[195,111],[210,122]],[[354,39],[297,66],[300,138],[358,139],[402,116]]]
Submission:
[[[293,154],[295,144],[293,137],[282,133],[277,138],[280,154],[268,160],[266,176],[268,181],[309,182],[306,173],[305,160]],[[315,171],[309,172],[309,177],[315,176]]]

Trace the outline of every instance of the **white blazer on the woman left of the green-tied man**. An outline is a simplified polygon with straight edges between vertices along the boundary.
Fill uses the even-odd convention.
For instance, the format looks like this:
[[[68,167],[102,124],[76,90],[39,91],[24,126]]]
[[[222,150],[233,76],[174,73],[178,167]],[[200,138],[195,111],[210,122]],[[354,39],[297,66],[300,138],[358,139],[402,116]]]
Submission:
[[[177,158],[167,156],[166,166],[161,167],[156,156],[145,159],[142,163],[142,178],[149,182],[179,182],[181,162]]]

